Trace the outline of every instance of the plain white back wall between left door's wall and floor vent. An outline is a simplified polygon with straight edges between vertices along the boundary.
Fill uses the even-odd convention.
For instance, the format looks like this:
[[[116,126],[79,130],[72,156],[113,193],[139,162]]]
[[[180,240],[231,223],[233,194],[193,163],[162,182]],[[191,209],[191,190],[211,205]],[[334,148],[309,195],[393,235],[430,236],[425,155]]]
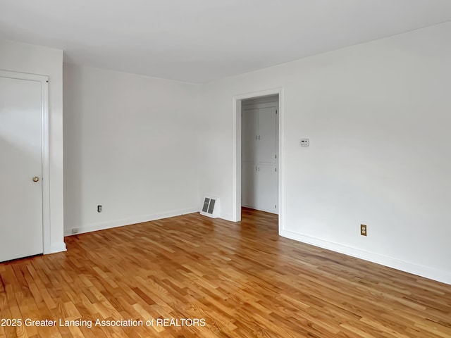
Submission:
[[[66,63],[63,78],[66,234],[198,210],[197,85]]]

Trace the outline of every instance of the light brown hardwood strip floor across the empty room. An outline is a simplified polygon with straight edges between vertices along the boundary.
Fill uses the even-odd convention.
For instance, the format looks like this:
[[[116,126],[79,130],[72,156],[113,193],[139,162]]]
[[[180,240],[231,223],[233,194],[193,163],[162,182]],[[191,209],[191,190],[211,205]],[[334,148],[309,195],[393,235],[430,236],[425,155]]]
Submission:
[[[183,215],[66,244],[0,264],[0,318],[206,325],[3,326],[1,338],[451,337],[450,285],[278,237],[268,213]]]

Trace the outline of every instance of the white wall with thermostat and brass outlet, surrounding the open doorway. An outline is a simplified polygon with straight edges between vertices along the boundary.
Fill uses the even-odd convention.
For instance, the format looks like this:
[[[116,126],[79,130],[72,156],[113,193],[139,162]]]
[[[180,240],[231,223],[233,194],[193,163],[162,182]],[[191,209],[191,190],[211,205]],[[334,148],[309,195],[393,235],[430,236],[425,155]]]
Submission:
[[[451,284],[450,41],[445,23],[203,85],[200,191],[232,218],[232,98],[283,87],[280,233]]]

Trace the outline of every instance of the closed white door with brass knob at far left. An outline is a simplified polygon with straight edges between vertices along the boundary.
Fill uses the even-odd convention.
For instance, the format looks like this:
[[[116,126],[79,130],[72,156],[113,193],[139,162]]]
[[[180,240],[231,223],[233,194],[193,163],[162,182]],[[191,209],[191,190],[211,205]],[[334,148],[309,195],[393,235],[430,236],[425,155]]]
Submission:
[[[43,252],[41,86],[0,76],[0,261]]]

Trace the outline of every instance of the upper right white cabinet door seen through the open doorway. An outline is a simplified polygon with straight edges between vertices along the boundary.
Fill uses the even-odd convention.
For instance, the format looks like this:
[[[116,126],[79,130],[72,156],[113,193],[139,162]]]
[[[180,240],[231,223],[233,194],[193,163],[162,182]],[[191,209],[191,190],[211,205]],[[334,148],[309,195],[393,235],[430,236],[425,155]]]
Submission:
[[[259,109],[259,163],[276,163],[276,108]]]

